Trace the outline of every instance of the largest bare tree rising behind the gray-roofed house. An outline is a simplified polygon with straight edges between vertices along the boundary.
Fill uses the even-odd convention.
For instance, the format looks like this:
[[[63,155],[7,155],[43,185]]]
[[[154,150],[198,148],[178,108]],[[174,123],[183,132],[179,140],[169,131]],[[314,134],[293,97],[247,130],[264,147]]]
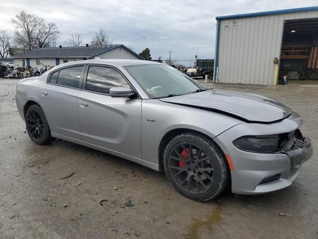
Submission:
[[[46,23],[42,17],[20,11],[11,19],[16,31],[13,40],[27,50],[51,46],[61,32],[55,23]]]

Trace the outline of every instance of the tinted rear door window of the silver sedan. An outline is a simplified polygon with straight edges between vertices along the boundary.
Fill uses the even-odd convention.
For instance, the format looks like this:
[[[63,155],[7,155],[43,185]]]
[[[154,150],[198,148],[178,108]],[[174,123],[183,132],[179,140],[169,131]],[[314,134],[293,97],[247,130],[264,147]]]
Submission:
[[[74,66],[60,70],[57,84],[67,87],[80,88],[80,77],[84,66]]]

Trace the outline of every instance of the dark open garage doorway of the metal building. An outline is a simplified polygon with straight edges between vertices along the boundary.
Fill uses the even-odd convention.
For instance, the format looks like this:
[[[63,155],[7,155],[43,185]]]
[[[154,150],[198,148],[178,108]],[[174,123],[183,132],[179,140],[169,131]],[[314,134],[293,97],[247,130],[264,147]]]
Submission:
[[[318,18],[284,21],[279,81],[318,83]]]

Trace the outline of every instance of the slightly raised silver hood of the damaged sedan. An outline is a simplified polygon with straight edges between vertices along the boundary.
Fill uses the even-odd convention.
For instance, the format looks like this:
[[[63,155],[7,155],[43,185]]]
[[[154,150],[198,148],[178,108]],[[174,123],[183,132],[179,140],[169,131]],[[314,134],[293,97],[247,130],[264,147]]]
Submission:
[[[249,93],[208,90],[160,101],[213,111],[246,122],[271,123],[290,116],[292,110],[278,101]]]

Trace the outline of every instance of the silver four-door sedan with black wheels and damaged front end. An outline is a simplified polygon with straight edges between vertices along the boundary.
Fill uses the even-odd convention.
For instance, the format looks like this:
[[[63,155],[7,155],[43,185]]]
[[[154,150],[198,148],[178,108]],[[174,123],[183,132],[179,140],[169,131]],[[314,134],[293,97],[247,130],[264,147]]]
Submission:
[[[16,104],[37,144],[65,139],[164,171],[206,201],[285,188],[313,155],[302,118],[254,94],[207,90],[164,64],[86,60],[21,80]]]

